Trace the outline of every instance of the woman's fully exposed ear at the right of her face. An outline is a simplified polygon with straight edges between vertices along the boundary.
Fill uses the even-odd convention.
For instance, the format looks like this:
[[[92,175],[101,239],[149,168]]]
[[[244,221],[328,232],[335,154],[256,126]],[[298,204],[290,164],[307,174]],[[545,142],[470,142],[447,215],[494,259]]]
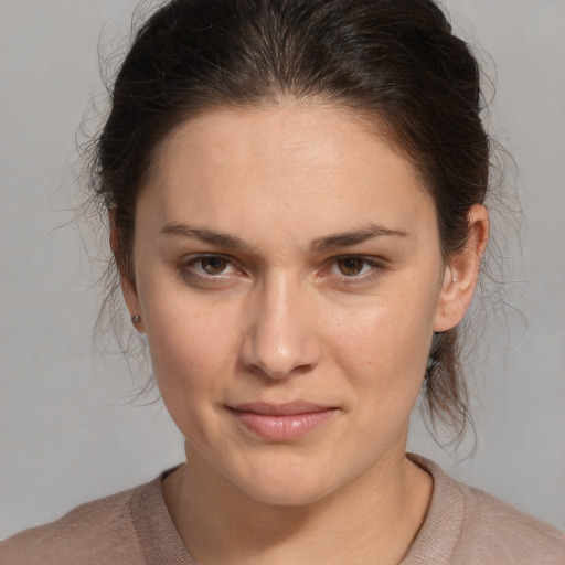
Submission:
[[[450,330],[462,320],[477,287],[481,259],[489,239],[489,214],[484,206],[475,204],[467,217],[469,238],[446,265],[434,323],[435,332]]]

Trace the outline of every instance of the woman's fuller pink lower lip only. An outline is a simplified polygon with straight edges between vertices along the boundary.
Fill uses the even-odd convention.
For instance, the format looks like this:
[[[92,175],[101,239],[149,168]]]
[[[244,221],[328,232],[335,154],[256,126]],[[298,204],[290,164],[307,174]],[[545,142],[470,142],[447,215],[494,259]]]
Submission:
[[[239,424],[252,434],[269,441],[292,441],[306,436],[320,427],[331,417],[337,409],[309,412],[305,414],[285,414],[274,416],[270,414],[257,414],[256,412],[232,411]]]

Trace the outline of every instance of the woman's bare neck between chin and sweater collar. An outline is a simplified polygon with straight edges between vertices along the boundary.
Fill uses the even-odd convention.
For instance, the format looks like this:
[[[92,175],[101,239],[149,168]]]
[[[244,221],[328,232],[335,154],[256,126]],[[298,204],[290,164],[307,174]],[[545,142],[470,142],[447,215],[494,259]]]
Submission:
[[[324,499],[274,505],[235,488],[188,446],[188,463],[163,484],[169,512],[202,565],[396,564],[419,530],[429,475],[390,456]]]

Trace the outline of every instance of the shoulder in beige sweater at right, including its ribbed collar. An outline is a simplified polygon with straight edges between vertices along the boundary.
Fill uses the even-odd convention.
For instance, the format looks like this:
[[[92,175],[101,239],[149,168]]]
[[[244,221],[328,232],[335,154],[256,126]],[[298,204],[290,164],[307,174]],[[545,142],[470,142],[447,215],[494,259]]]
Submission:
[[[565,534],[409,455],[434,479],[426,520],[403,565],[565,565]]]

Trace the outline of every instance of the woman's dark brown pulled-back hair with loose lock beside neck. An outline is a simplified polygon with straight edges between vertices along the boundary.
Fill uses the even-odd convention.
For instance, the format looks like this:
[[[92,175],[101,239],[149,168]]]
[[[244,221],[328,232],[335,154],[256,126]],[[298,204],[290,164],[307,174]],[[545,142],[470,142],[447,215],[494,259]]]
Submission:
[[[352,109],[418,171],[444,259],[469,236],[489,186],[480,73],[431,0],[172,0],[138,30],[95,140],[93,190],[132,274],[135,207],[160,143],[200,113],[321,100]],[[116,269],[117,267],[117,269]],[[424,397],[462,435],[469,419],[457,328],[434,335]]]

